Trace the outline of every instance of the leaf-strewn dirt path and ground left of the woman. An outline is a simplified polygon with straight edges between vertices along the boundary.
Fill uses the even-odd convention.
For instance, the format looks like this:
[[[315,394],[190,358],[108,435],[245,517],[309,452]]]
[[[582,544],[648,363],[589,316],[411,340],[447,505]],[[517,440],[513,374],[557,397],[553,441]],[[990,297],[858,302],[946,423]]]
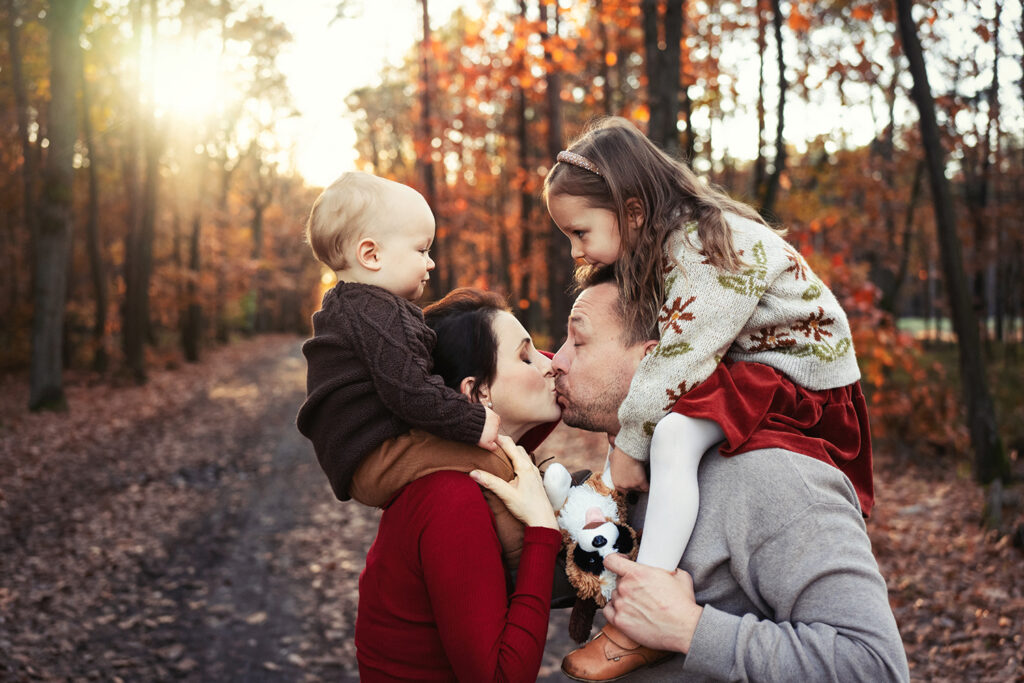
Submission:
[[[76,389],[65,416],[0,405],[6,455],[36,460],[0,475],[0,678],[357,680],[379,512],[335,500],[295,428],[299,347],[245,341],[134,396]]]

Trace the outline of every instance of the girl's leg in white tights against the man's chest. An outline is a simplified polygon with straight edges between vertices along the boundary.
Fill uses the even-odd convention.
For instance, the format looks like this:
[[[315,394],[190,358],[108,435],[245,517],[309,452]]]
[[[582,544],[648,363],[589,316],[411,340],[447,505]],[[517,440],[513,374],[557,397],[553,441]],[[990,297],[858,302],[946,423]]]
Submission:
[[[725,435],[718,423],[669,413],[650,442],[650,493],[637,561],[672,571],[686,550],[700,501],[697,466]]]

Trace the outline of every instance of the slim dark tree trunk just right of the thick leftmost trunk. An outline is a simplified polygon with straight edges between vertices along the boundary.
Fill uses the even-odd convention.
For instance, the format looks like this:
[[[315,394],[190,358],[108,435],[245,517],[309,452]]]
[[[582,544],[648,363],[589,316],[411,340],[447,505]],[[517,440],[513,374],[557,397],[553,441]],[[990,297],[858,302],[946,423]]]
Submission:
[[[96,140],[92,134],[92,112],[90,111],[91,92],[85,78],[84,54],[79,54],[82,60],[82,135],[85,147],[89,154],[89,165],[86,173],[89,179],[89,205],[86,209],[85,240],[86,251],[89,254],[89,272],[92,280],[92,293],[96,301],[96,315],[92,326],[92,369],[102,373],[106,371],[109,357],[106,354],[106,272],[103,267],[102,237],[99,234],[99,181],[96,177],[96,167],[99,164],[96,154]]]

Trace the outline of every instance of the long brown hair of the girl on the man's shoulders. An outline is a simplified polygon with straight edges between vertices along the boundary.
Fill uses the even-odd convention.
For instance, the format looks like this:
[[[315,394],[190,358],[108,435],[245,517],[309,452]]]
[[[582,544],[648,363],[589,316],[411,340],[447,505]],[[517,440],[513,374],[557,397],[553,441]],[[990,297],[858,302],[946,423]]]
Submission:
[[[544,200],[583,197],[590,206],[615,214],[621,245],[615,282],[631,329],[645,332],[656,325],[666,296],[665,246],[673,230],[697,221],[705,256],[720,269],[736,271],[743,262],[725,213],[765,224],[752,207],[705,183],[626,119],[593,121],[568,151],[589,159],[601,174],[556,163],[545,178]],[[630,227],[631,219],[638,223],[636,229]]]

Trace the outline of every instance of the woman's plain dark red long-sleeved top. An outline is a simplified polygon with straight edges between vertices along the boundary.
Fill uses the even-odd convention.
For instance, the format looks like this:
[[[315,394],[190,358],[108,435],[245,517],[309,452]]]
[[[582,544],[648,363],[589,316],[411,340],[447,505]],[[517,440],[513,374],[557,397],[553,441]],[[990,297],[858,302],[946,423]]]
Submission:
[[[527,526],[515,592],[483,495],[460,472],[408,484],[359,577],[355,649],[374,681],[536,681],[561,535]]]

